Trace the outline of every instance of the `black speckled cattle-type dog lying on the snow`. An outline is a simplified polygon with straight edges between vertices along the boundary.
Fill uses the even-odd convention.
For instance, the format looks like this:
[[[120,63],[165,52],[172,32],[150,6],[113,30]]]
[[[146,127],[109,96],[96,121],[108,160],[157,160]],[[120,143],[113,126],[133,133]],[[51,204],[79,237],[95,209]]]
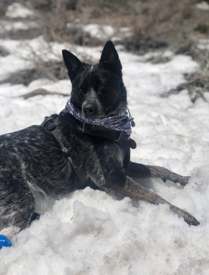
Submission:
[[[126,116],[127,91],[118,53],[111,41],[105,44],[96,65],[82,63],[67,50],[63,50],[63,59],[72,83],[68,103],[75,112],[87,121],[114,118],[122,113]],[[125,121],[126,126],[130,125],[126,117]],[[74,114],[69,117],[61,112],[53,119],[58,139],[49,129],[36,125],[0,137],[1,234],[12,235],[14,228],[22,230],[38,216],[34,213],[37,198],[56,197],[75,190],[74,180],[76,175],[79,178],[79,173],[101,190],[154,204],[167,203],[189,225],[199,224],[188,212],[132,179],[160,178],[185,186],[188,176],[130,161],[130,134],[122,130],[105,131],[103,126],[98,126],[99,134],[95,135],[91,127],[93,134],[85,133],[85,123]],[[120,137],[117,140],[111,137],[118,133],[125,133],[120,142]],[[67,155],[63,148],[67,149]]]

